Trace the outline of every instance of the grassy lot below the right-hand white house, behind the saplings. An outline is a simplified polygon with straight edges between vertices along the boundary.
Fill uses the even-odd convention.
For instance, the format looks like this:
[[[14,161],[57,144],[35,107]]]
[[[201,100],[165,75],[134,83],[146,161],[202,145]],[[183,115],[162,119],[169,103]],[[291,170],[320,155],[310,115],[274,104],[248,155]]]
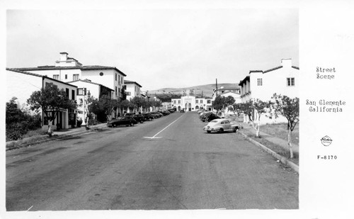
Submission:
[[[259,129],[263,133],[287,140],[287,123],[261,125]],[[292,143],[299,145],[299,123],[292,131]]]

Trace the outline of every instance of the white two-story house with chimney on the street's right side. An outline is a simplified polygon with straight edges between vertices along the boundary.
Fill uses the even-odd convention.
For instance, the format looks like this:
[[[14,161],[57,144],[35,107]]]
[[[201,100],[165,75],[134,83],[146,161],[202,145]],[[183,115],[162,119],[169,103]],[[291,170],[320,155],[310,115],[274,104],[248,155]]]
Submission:
[[[295,98],[299,96],[299,67],[292,65],[291,59],[282,59],[281,65],[268,69],[252,70],[249,76],[240,83],[241,102],[251,99],[270,101],[273,94],[282,94]],[[246,117],[245,117],[246,118]],[[246,118],[247,119],[247,118]],[[248,122],[248,120],[245,120]],[[261,117],[261,123],[282,123],[285,118],[272,119],[267,116]]]

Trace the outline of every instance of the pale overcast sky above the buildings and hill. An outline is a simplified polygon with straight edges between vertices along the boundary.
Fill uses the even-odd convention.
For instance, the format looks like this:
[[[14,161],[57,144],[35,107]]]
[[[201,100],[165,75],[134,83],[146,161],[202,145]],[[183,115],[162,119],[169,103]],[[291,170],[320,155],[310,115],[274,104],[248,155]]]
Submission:
[[[299,67],[297,9],[7,11],[6,67],[54,65],[68,52],[107,65],[142,90],[239,83],[250,70],[292,58]]]

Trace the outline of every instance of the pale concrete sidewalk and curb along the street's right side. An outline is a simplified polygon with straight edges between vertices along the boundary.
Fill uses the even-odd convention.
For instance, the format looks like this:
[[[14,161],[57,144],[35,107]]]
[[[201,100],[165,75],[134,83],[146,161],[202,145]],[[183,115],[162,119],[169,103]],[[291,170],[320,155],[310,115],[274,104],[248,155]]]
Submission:
[[[287,159],[286,157],[283,157],[282,155],[278,155],[273,150],[270,150],[270,148],[265,147],[265,145],[262,145],[260,142],[257,142],[256,140],[253,140],[252,137],[250,137],[250,135],[247,135],[246,133],[252,133],[252,135],[256,135],[256,130],[254,130],[249,124],[247,124],[247,123],[242,124],[242,128],[243,129],[239,130],[239,133],[241,133],[241,135],[244,135],[244,137],[246,137],[247,140],[251,141],[253,144],[257,145],[258,147],[261,147],[263,150],[268,152],[270,155],[273,155],[273,157],[279,159],[280,162],[288,165],[289,167],[294,169],[295,172],[299,173],[299,166],[297,164],[295,164],[294,162],[291,162],[289,159]],[[243,130],[245,130],[245,131],[243,131]],[[268,134],[262,133],[262,132],[260,132],[259,134],[265,140],[268,140],[269,142],[272,142],[273,144],[278,145],[285,150],[289,150],[289,146],[287,145],[286,140],[282,140],[279,137],[268,135]],[[293,151],[296,152],[297,154],[299,154],[299,145],[293,145]]]

